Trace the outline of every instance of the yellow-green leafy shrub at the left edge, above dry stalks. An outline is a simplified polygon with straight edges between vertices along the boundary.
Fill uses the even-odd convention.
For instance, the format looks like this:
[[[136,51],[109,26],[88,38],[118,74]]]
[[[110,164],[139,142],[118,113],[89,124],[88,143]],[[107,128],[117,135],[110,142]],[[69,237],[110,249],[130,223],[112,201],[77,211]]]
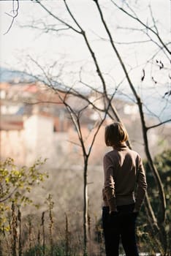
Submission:
[[[4,225],[11,202],[18,207],[33,203],[29,193],[35,185],[47,178],[47,173],[40,170],[45,161],[37,159],[31,167],[18,167],[12,158],[0,162],[0,228],[9,228]]]

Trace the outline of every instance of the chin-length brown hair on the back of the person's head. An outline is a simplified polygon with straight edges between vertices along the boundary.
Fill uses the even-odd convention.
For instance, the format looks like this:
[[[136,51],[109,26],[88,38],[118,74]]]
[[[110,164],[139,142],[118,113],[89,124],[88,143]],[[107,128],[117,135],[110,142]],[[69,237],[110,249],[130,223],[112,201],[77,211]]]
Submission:
[[[105,127],[104,140],[106,146],[119,146],[121,143],[128,140],[128,138],[129,136],[125,127],[119,122],[109,124]]]

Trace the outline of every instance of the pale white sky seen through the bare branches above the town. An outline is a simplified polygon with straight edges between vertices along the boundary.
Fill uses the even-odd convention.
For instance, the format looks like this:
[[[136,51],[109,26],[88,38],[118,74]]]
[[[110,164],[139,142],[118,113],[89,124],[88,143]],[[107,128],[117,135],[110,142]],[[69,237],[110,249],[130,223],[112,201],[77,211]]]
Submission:
[[[132,2],[132,6],[138,6],[140,18],[142,18],[145,23],[151,23],[148,8],[148,4],[151,4],[153,16],[156,18],[159,25],[159,32],[162,38],[168,41],[170,38],[171,2],[163,0],[143,0],[142,4],[142,1],[138,0],[129,1]],[[57,15],[64,17],[70,22],[69,16],[64,12],[64,4],[62,4],[62,2],[61,0],[42,1],[47,7],[52,8]],[[99,38],[107,39],[107,34],[104,31],[102,23],[99,22],[99,13],[96,10],[94,1],[69,0],[68,2],[75,17],[87,32],[88,39],[91,42],[99,65],[102,68],[102,72],[105,74],[107,84],[109,84],[109,86],[111,84],[117,86],[124,80],[123,70],[109,43]],[[156,53],[156,45],[153,44],[152,46],[151,43],[148,42],[129,45],[128,42],[143,41],[147,38],[143,34],[139,34],[138,36],[134,31],[128,30],[128,27],[139,27],[135,25],[130,18],[126,17],[126,15],[123,15],[123,13],[115,8],[111,8],[110,0],[102,0],[99,2],[102,4],[104,17],[107,23],[110,24],[110,30],[113,32],[115,42],[118,42],[116,46],[139,92],[144,94],[144,87],[146,86],[148,89],[151,88],[153,91],[161,90],[161,93],[163,93],[163,84],[168,83],[168,76],[163,72],[159,72],[158,67],[152,67],[151,61],[149,61],[150,57]],[[121,2],[124,3],[125,1],[118,0],[115,2],[121,4]],[[19,70],[27,69],[29,72],[39,72],[40,70],[37,65],[35,65],[35,61],[46,70],[51,66],[53,67],[53,64],[56,63],[55,68],[50,68],[51,75],[58,76],[58,70],[62,70],[62,75],[58,79],[61,79],[64,83],[75,85],[77,80],[80,79],[79,73],[81,70],[81,79],[88,84],[98,86],[99,78],[94,75],[95,67],[90,58],[90,53],[83,42],[83,38],[80,37],[79,34],[70,31],[64,31],[59,35],[55,33],[42,34],[35,29],[21,27],[31,25],[32,20],[38,20],[40,26],[42,21],[47,24],[54,23],[53,20],[49,18],[49,15],[39,7],[39,4],[27,0],[19,1],[18,16],[15,18],[12,28],[5,34],[12,21],[11,17],[9,17],[9,14],[12,14],[11,11],[12,1],[0,1],[1,67]],[[118,29],[118,27],[120,27],[120,29]],[[121,27],[125,29],[121,29]],[[125,44],[121,45],[120,42],[125,42]],[[163,56],[162,58],[164,65],[167,65],[168,60]],[[34,63],[31,59],[34,59]],[[148,64],[147,61],[149,61]],[[145,69],[144,83],[140,83],[142,69]],[[155,74],[157,80],[162,80],[157,90],[155,89],[155,84],[151,81],[151,74]],[[123,87],[121,87],[121,90],[123,90]],[[151,100],[151,91],[148,91],[148,97]]]

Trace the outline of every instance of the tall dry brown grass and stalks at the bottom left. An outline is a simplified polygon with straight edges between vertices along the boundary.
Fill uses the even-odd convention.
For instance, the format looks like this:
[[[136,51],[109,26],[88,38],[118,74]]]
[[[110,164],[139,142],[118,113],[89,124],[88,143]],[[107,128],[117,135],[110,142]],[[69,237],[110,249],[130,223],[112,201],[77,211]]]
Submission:
[[[20,209],[12,203],[11,215],[8,219],[9,230],[1,230],[1,256],[83,255],[81,228],[72,230],[69,221],[70,218],[67,214],[64,214],[63,225],[58,225],[53,212],[53,200],[51,196],[47,198],[46,208],[46,211],[43,211],[41,216],[30,214],[22,217]],[[91,224],[90,218],[89,224]],[[93,233],[93,229],[94,227],[88,227],[91,238],[88,244],[88,255],[102,256],[104,255],[102,239],[99,239],[99,242],[97,242],[99,232]]]

